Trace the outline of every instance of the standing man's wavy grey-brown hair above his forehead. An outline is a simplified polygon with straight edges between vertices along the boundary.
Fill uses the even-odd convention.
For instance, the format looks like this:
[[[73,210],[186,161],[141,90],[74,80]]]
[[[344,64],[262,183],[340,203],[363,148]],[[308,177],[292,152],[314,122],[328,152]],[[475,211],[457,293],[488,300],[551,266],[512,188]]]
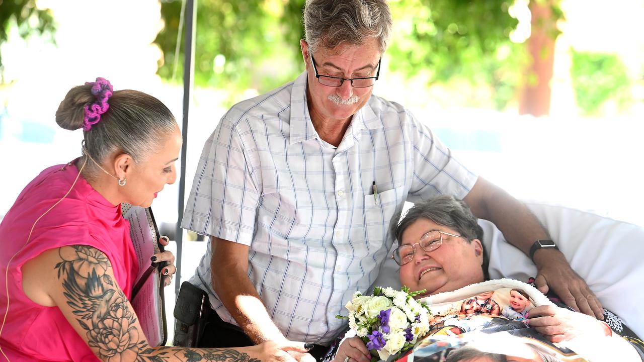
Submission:
[[[375,37],[384,53],[392,30],[392,14],[384,0],[307,0],[304,30],[308,51],[361,46]]]

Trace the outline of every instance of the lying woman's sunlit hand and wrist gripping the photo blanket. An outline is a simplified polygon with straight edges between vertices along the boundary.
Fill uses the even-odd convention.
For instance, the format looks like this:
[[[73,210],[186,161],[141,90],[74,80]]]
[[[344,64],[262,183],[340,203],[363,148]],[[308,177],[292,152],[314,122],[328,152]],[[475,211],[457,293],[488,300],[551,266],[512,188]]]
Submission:
[[[592,316],[553,305],[535,307],[530,310],[528,316],[530,327],[551,342],[567,341],[582,334],[591,338],[609,335],[607,327]]]

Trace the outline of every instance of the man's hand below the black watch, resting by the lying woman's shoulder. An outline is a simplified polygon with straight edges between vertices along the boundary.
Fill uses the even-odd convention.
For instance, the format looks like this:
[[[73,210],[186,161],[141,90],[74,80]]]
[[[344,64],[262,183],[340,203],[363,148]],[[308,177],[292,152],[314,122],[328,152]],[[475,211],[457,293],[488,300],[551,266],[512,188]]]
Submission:
[[[539,249],[535,252],[538,270],[535,285],[547,293],[552,288],[561,300],[574,310],[603,319],[603,308],[586,282],[571,269],[564,254],[554,249]]]

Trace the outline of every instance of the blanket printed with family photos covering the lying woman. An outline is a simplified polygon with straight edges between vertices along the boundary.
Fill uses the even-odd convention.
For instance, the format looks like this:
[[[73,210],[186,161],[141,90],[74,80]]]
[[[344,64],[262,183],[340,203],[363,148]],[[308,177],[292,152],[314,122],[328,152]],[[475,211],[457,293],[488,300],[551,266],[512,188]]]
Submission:
[[[451,292],[451,298],[435,298],[430,332],[408,358],[415,362],[586,361],[529,328],[530,310],[544,303],[532,287],[516,283],[482,288],[470,286]]]

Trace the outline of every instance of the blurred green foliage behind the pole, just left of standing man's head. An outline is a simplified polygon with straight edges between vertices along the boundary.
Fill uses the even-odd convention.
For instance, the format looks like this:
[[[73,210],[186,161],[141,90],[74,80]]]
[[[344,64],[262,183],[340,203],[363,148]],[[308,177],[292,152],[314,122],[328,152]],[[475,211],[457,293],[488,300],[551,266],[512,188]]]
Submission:
[[[303,36],[303,0],[198,0],[194,80],[200,86],[269,90],[289,81],[302,70],[298,62]],[[182,81],[184,35],[179,59],[175,46],[181,1],[164,1],[166,26],[156,37],[164,52],[159,74],[170,79],[178,61],[175,81]],[[299,55],[301,59],[301,55]]]

